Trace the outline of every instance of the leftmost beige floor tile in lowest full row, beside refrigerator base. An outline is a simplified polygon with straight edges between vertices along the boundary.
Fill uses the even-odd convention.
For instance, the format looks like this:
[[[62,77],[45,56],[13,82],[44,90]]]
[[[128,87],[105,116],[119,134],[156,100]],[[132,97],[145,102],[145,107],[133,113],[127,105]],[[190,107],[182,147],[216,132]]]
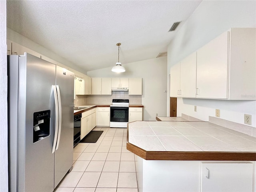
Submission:
[[[82,175],[83,172],[70,172],[66,174],[59,187],[76,187]]]

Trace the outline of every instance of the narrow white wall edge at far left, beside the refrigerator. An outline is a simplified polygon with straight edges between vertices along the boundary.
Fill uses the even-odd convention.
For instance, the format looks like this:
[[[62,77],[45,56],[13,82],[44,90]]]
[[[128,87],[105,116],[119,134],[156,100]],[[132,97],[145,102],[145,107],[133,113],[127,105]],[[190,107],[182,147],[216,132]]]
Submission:
[[[8,191],[6,0],[0,0],[0,191]]]

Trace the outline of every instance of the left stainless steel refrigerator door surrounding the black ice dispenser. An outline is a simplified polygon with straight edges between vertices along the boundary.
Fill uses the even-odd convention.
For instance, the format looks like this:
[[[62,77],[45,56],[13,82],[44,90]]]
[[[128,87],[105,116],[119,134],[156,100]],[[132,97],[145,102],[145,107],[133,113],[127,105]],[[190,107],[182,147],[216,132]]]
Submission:
[[[24,60],[26,61],[24,62]],[[20,56],[20,120],[25,124],[19,125],[19,132],[25,133],[25,167],[24,190],[26,192],[52,192],[54,180],[54,154],[52,144],[54,136],[54,96],[52,85],[55,84],[55,65],[30,54]],[[23,82],[26,82],[23,84]],[[25,95],[22,95],[26,90]],[[50,136],[33,143],[33,114],[34,112],[50,110]],[[21,152],[19,150],[19,152]],[[22,152],[21,152],[22,153]],[[19,156],[21,157],[21,156]],[[20,163],[20,162],[19,162]],[[19,182],[23,182],[20,180]]]

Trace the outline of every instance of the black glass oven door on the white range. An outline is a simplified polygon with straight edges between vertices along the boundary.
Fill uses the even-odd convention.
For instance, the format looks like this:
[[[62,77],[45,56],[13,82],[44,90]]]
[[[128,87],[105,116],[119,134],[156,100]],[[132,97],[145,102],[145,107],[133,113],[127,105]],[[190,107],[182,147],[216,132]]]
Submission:
[[[110,122],[128,123],[129,107],[110,107]]]

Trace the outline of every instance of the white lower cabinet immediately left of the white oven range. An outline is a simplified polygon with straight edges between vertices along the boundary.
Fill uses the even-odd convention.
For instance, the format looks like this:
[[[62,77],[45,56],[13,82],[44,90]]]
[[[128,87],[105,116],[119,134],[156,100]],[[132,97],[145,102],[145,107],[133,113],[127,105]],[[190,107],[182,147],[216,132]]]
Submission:
[[[110,126],[110,107],[97,107],[97,126]]]

